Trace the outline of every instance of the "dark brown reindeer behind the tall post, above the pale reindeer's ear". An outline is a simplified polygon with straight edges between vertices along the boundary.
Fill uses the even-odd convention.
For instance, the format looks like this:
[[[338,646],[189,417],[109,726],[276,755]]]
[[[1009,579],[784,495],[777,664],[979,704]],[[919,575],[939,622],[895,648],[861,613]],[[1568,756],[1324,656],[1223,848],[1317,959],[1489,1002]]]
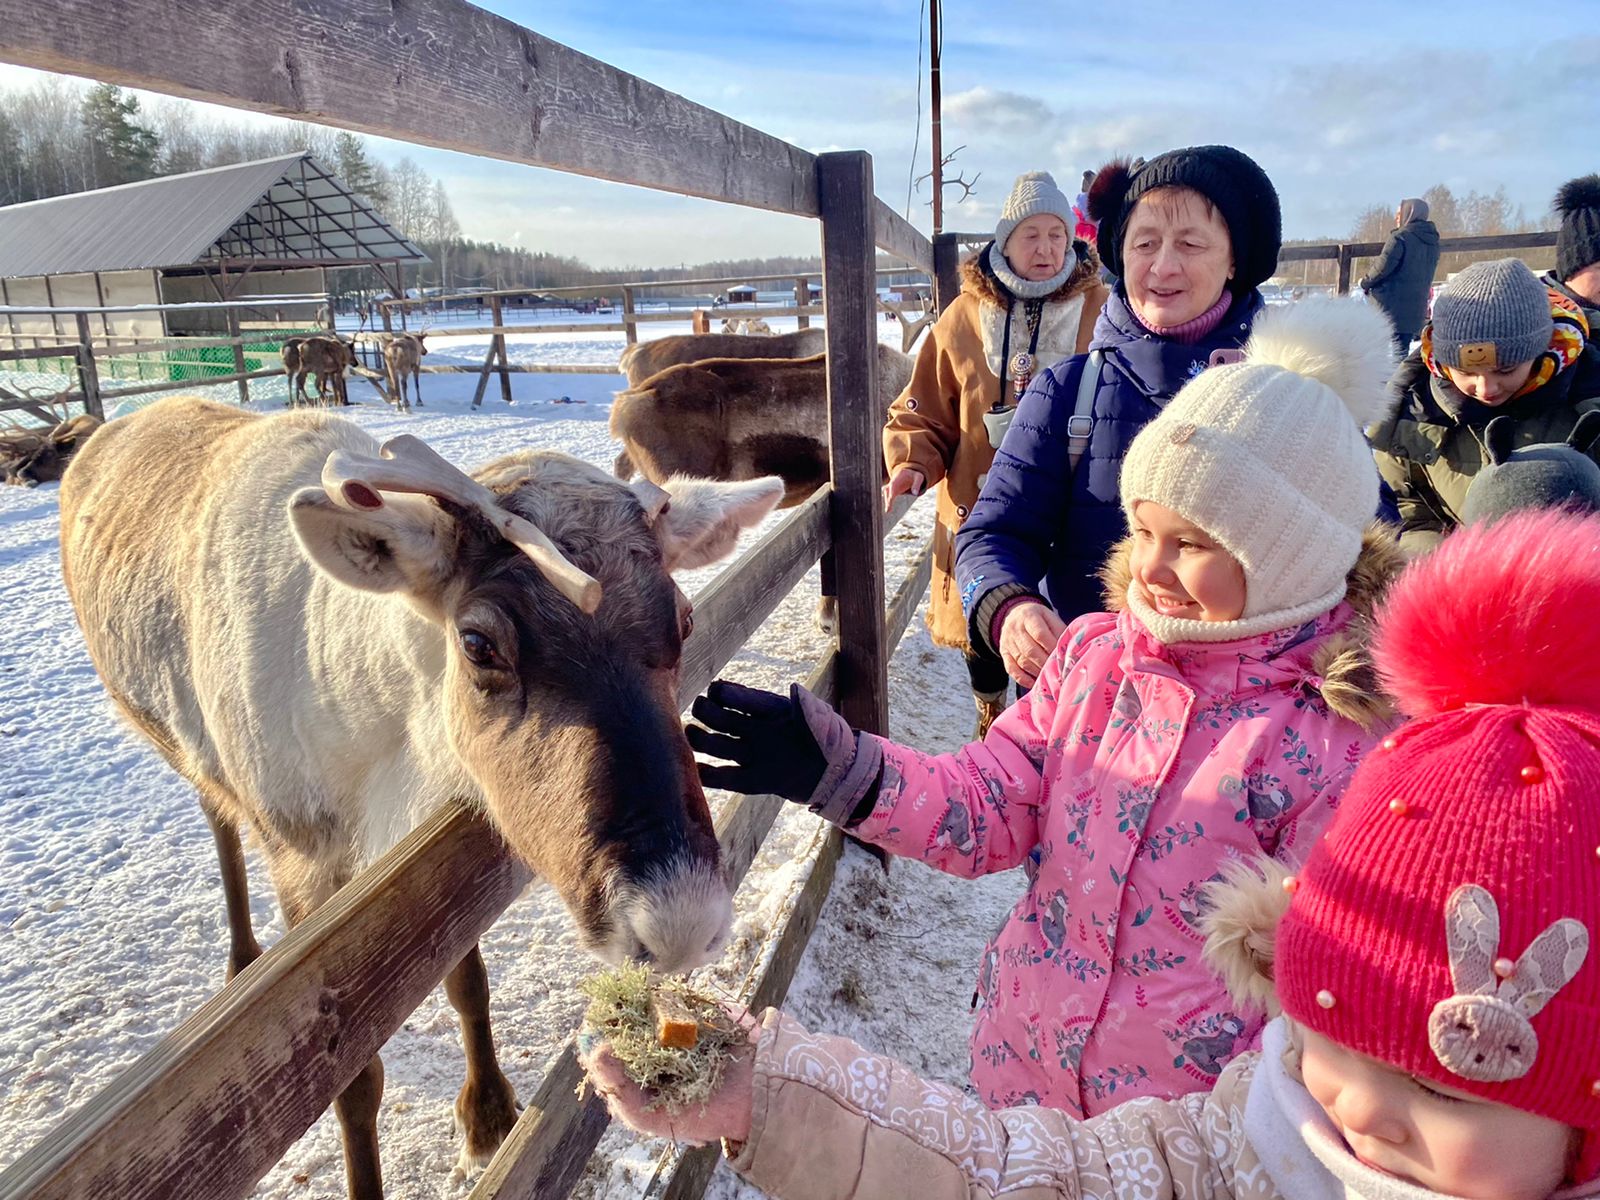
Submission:
[[[878,346],[878,416],[906,387],[912,360]],[[619,478],[674,475],[744,480],[781,475],[782,507],[829,478],[827,355],[710,358],[669,366],[611,403],[622,443]]]

